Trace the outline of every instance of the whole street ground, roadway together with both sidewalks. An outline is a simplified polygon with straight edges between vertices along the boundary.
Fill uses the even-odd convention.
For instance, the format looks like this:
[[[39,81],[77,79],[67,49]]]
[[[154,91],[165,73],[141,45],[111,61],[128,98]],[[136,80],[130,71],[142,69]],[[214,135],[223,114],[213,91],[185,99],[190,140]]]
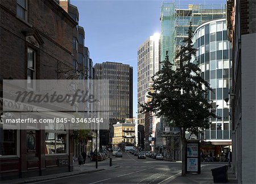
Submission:
[[[85,165],[74,165],[74,171],[39,177],[19,178],[1,183],[213,183],[210,169],[227,163],[202,163],[201,174],[187,174],[181,177],[181,162],[160,161],[152,158],[137,159],[130,153],[123,153],[122,158],[109,158],[98,162],[86,161]],[[228,170],[228,183],[237,183],[231,169]]]

